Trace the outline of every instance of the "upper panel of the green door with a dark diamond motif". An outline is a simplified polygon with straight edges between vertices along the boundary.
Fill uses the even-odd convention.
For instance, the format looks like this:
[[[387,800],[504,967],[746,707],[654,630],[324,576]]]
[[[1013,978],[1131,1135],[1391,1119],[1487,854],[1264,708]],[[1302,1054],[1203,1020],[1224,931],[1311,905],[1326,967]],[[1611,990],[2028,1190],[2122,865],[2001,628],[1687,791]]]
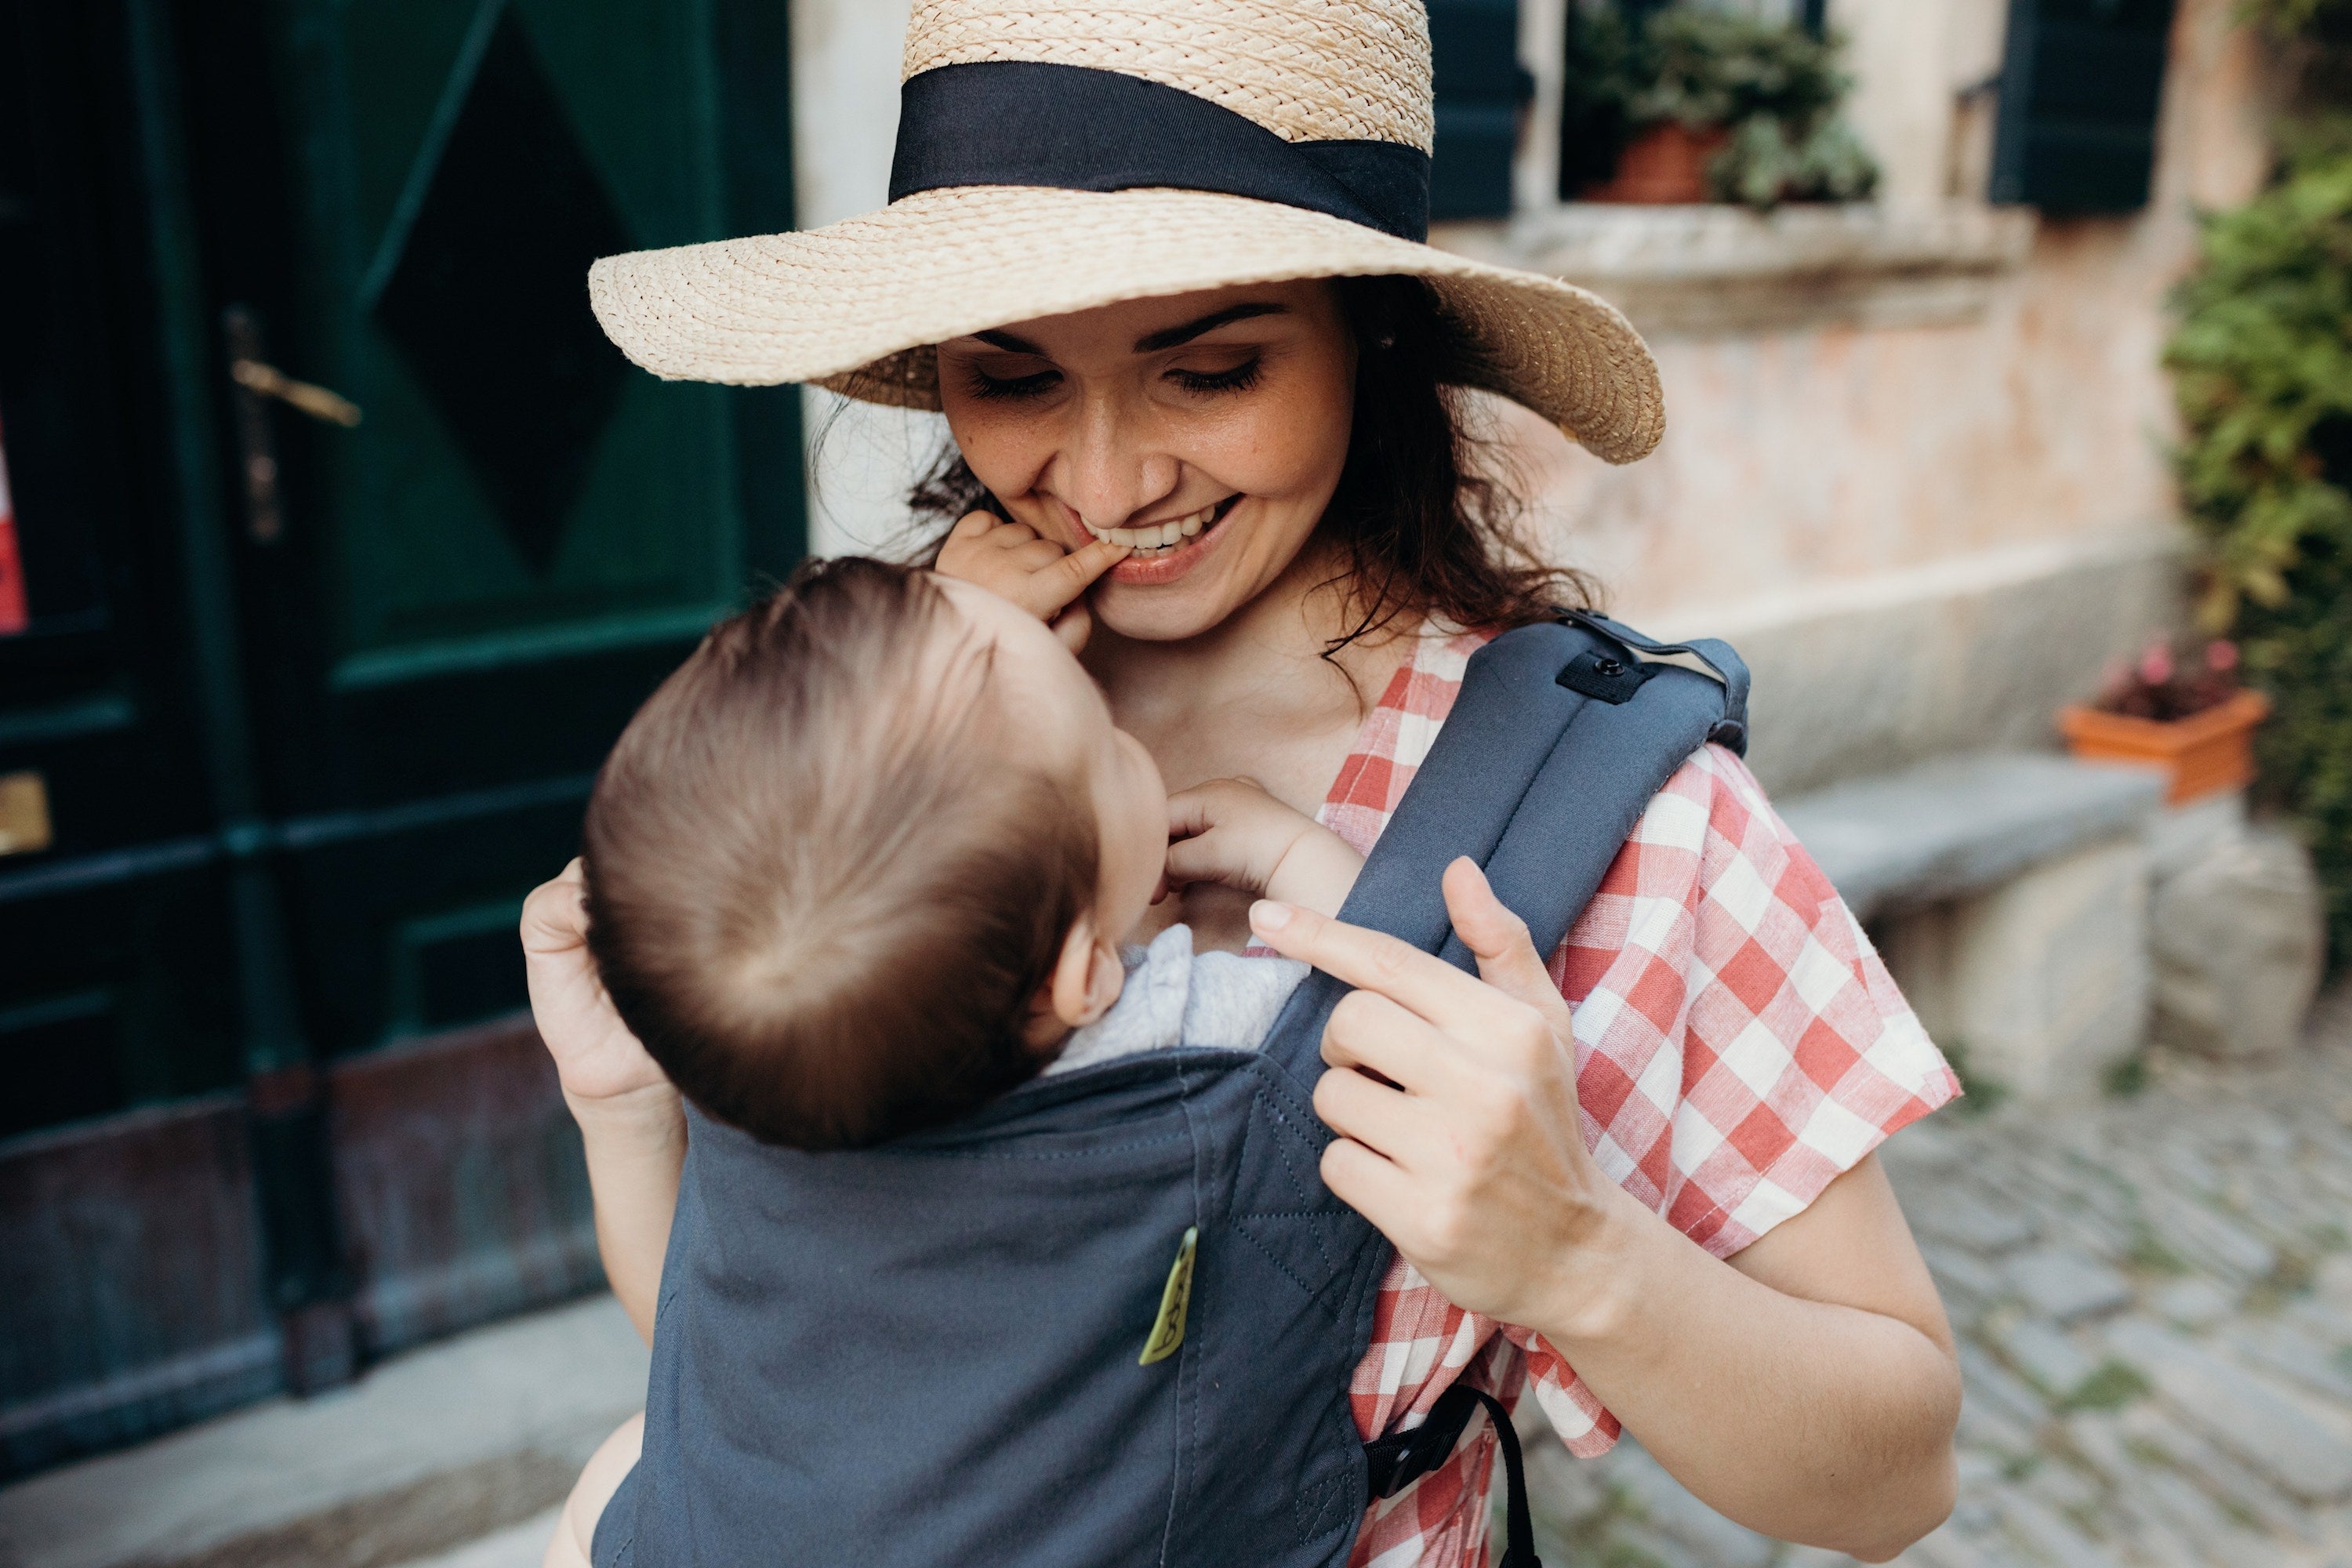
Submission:
[[[353,87],[308,94],[303,240],[341,273],[332,383],[369,414],[327,442],[329,693],[691,639],[743,581],[724,393],[633,371],[586,266],[724,230],[708,16],[492,0],[395,52],[407,0],[327,14],[343,38],[318,21],[306,56]],[[383,99],[409,113],[336,113]],[[477,743],[447,783],[513,776]]]

